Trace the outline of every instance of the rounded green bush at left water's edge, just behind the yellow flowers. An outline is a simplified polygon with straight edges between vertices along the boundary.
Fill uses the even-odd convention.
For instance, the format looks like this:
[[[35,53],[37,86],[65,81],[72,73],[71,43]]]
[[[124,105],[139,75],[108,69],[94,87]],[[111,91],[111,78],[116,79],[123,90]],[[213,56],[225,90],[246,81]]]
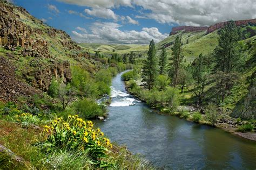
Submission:
[[[103,116],[104,112],[100,105],[95,100],[83,98],[75,103],[76,112],[83,118],[93,118]]]

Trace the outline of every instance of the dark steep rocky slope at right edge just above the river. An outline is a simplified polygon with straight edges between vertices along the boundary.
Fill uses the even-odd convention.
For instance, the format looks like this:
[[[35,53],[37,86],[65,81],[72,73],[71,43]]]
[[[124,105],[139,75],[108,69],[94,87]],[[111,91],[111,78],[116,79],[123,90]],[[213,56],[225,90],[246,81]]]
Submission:
[[[252,82],[248,87],[248,94],[235,106],[231,116],[243,119],[256,118],[256,72],[252,75]]]

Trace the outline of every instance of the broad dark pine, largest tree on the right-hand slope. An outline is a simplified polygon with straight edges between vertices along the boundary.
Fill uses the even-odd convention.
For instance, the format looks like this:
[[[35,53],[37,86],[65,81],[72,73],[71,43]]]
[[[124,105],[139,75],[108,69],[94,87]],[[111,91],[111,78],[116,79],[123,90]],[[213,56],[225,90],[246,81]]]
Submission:
[[[219,45],[215,48],[216,69],[230,73],[239,68],[241,62],[239,41],[240,30],[233,21],[220,30]]]

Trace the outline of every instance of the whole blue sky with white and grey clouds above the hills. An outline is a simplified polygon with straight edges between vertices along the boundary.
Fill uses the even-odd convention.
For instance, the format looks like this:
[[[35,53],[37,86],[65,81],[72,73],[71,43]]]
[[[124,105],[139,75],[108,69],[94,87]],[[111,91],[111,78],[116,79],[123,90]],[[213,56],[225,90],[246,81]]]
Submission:
[[[78,42],[148,44],[172,26],[256,18],[254,0],[12,0]],[[237,6],[238,5],[238,6]]]

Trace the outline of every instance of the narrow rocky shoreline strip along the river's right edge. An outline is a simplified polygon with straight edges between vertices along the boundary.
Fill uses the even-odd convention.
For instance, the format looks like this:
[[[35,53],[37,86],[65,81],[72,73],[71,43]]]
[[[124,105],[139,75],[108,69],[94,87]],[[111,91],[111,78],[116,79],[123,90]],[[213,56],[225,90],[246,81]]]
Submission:
[[[145,100],[143,100],[143,98],[141,98],[138,94],[135,94],[135,93],[132,93],[129,85],[127,84],[127,81],[125,81],[125,89],[127,90],[127,92],[133,96],[135,96],[136,98],[138,98],[140,101],[142,102],[145,102]],[[152,107],[151,107],[152,108]],[[172,115],[172,116],[177,116],[181,119],[185,119],[186,121],[190,121],[190,122],[193,122],[193,119],[192,119],[192,114],[193,112],[196,112],[196,111],[200,111],[201,109],[200,108],[196,108],[196,107],[193,107],[193,106],[185,106],[183,108],[186,108],[187,111],[190,112],[190,116],[188,117],[183,117],[181,114],[180,114],[180,110],[181,109],[178,109],[177,112],[173,112],[171,114],[171,112],[165,112],[164,109],[163,110],[159,110],[157,108],[152,108],[154,110],[156,110],[158,112],[158,114],[161,114],[161,115]],[[204,117],[205,115],[203,115]],[[198,124],[203,124],[203,125],[208,125],[208,126],[212,126],[210,122],[207,122],[205,120],[203,121],[199,121],[199,122],[196,122]],[[231,118],[230,116],[228,115],[225,115],[224,118],[221,118],[217,121],[217,124],[215,124],[214,128],[219,128],[219,129],[222,129],[228,133],[231,133],[235,136],[238,136],[238,137],[241,137],[241,138],[245,138],[245,139],[248,139],[248,140],[252,140],[252,141],[256,141],[256,133],[255,132],[238,132],[238,126],[239,125],[242,125],[244,122],[240,121],[240,122],[237,122],[234,118]]]

